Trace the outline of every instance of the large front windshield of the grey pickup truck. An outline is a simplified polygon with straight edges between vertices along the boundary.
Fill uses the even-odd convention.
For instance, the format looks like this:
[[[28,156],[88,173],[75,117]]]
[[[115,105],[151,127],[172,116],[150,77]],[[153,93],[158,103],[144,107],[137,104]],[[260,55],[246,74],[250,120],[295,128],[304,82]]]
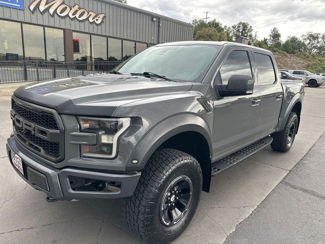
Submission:
[[[152,72],[177,81],[201,82],[222,46],[154,46],[133,56],[116,70],[122,74]]]

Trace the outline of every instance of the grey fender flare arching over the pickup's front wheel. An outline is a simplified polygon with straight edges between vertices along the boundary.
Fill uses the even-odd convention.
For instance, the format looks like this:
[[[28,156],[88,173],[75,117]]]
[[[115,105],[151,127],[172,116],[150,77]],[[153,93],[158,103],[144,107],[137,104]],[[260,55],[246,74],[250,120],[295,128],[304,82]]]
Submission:
[[[154,126],[137,144],[126,165],[127,171],[142,170],[151,155],[158,147],[171,137],[182,132],[198,132],[209,144],[210,157],[212,156],[211,130],[206,121],[194,114],[186,113],[172,116]],[[133,164],[132,160],[139,163]]]

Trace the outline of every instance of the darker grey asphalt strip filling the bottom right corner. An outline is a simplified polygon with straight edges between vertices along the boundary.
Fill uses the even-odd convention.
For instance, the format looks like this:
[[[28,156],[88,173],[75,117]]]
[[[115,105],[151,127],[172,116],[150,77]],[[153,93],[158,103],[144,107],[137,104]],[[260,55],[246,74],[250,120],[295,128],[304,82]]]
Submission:
[[[325,136],[225,241],[325,243]]]

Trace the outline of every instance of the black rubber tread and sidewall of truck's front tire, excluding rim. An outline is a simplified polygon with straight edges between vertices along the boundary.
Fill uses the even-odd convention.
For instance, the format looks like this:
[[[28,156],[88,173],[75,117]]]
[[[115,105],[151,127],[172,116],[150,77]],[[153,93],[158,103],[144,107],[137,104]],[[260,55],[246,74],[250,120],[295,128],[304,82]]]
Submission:
[[[188,210],[173,226],[166,226],[160,218],[160,203],[168,187],[180,176],[187,176],[192,184]],[[176,239],[193,218],[201,197],[202,170],[192,156],[175,149],[158,149],[151,156],[132,197],[125,198],[124,216],[129,228],[141,242],[166,244]]]

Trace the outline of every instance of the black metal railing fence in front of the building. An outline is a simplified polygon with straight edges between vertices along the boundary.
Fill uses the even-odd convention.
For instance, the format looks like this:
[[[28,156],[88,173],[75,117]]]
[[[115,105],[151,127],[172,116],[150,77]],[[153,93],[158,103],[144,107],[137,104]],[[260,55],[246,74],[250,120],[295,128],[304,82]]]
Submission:
[[[108,73],[121,62],[0,61],[0,83]]]

